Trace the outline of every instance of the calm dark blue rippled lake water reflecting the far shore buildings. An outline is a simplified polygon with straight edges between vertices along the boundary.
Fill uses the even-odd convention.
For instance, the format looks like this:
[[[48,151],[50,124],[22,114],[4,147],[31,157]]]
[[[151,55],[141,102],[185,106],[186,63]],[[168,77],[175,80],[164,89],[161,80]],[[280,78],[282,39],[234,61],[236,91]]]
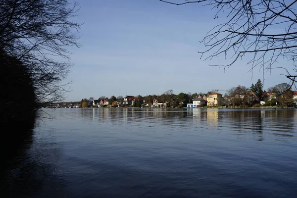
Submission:
[[[45,112],[1,198],[297,197],[297,110]]]

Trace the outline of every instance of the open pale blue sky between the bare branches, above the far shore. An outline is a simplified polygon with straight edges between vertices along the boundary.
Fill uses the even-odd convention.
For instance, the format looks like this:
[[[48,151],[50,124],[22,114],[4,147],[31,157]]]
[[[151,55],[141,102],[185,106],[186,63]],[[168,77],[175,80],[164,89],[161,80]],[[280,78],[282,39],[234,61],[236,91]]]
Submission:
[[[70,1],[71,2],[71,1]],[[67,101],[126,95],[206,93],[238,85],[250,87],[258,79],[264,89],[288,82],[283,71],[248,72],[240,60],[224,70],[225,61],[200,59],[200,43],[223,19],[215,10],[198,4],[171,5],[159,0],[77,0],[73,20],[81,26],[81,48],[70,48],[74,66],[66,79],[71,84]],[[275,66],[288,64],[280,60]],[[225,91],[219,91],[225,94]]]

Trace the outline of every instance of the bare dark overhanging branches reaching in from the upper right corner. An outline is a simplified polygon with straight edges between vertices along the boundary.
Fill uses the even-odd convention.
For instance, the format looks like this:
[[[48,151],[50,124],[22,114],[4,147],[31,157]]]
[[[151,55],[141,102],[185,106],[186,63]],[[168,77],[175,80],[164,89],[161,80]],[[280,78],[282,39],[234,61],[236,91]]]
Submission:
[[[251,54],[247,64],[271,70],[277,60],[285,58],[293,64],[297,59],[297,0],[160,0],[175,5],[201,3],[217,12],[213,19],[226,19],[203,38],[206,47],[201,58],[211,60],[224,56],[231,60],[220,67],[229,67]],[[180,1],[180,2],[178,2]],[[230,52],[230,53],[229,53]],[[288,70],[287,70],[288,71]],[[287,77],[292,85],[297,76]],[[291,84],[291,83],[290,83]]]

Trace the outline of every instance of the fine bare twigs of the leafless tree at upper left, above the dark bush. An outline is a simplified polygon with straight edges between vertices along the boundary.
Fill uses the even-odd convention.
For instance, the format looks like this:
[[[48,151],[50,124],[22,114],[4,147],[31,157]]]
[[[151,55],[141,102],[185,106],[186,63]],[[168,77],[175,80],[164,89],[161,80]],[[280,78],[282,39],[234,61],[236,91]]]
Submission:
[[[68,47],[79,47],[78,4],[67,0],[0,0],[0,49],[28,67],[37,102],[63,99]]]

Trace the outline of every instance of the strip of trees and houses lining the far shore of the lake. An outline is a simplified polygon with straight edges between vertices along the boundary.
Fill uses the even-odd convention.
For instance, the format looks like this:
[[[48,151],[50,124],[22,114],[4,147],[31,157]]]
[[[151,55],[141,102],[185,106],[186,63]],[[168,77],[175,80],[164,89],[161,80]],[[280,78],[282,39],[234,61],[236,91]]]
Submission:
[[[174,94],[173,90],[167,90],[162,95],[147,95],[147,96],[112,96],[108,99],[105,96],[95,99],[82,99],[80,102],[60,102],[53,104],[54,107],[166,107],[166,108],[184,108],[188,104],[193,103],[194,99],[200,98],[207,100],[209,95],[217,92],[212,90],[207,93],[196,92]],[[127,103],[127,99],[131,99],[131,103]],[[204,101],[205,102],[205,101]],[[297,102],[297,92],[292,91],[292,88],[287,83],[281,83],[274,87],[263,90],[263,83],[260,79],[255,84],[251,84],[249,88],[245,86],[237,86],[226,90],[222,97],[219,106],[209,106],[211,108],[229,107],[229,108],[259,108],[271,106],[275,107],[294,107]],[[198,105],[198,107],[207,107],[206,103]]]

